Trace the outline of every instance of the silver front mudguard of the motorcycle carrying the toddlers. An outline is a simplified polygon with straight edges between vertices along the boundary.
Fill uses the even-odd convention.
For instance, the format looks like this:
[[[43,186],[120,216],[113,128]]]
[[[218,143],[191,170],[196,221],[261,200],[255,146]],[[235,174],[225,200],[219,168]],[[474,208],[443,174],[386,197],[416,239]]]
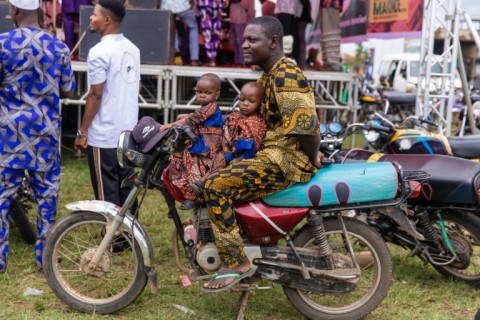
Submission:
[[[72,211],[92,211],[103,215],[107,219],[107,223],[111,223],[115,216],[120,211],[120,207],[113,203],[100,200],[83,200],[71,202],[66,205],[66,208]],[[132,230],[133,229],[135,231]],[[153,250],[152,243],[147,235],[147,232],[142,225],[135,220],[131,215],[127,214],[122,222],[122,228],[133,234],[135,241],[138,243],[143,255],[143,264],[148,268],[153,268]]]

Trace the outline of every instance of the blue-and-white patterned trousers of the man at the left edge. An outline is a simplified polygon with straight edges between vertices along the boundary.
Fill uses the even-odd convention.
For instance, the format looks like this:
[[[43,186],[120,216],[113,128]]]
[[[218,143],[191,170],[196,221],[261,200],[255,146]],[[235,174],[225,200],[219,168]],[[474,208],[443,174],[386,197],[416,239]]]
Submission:
[[[55,223],[57,199],[60,188],[60,165],[50,171],[28,170],[35,201],[38,204],[37,242],[35,243],[35,262],[42,268],[42,253],[48,232]],[[17,193],[25,170],[0,167],[0,271],[7,268],[9,251],[9,209],[13,196]]]

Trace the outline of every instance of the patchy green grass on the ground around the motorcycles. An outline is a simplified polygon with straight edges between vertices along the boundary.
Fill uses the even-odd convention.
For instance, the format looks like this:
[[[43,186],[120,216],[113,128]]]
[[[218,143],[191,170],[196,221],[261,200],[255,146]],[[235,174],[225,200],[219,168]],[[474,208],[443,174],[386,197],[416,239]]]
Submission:
[[[68,202],[92,199],[86,160],[63,152],[62,182],[58,217],[68,214]],[[200,283],[183,287],[172,250],[173,224],[166,215],[161,195],[149,191],[140,212],[154,245],[159,271],[159,291],[149,287],[130,306],[107,316],[76,312],[50,290],[43,274],[36,270],[33,245],[26,245],[12,228],[9,267],[0,275],[0,319],[235,319],[238,293],[205,294]],[[478,290],[459,281],[446,280],[432,267],[424,266],[407,252],[390,247],[394,259],[394,280],[387,298],[366,319],[473,319],[480,307]],[[40,296],[23,296],[27,288],[42,290]],[[179,304],[195,311],[186,315]],[[253,295],[245,319],[303,319],[289,304],[282,288]]]

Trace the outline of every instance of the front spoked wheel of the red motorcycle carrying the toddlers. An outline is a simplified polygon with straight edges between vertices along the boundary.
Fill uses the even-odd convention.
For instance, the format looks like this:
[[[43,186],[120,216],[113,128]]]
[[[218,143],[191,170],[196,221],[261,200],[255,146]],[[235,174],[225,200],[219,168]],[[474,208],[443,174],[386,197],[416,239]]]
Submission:
[[[71,213],[55,225],[45,245],[47,282],[60,300],[76,310],[118,311],[131,304],[147,284],[140,247],[125,231],[107,248],[94,274],[89,271],[88,261],[103,239],[106,224],[105,217],[96,212]],[[113,253],[122,241],[128,244],[126,248]]]

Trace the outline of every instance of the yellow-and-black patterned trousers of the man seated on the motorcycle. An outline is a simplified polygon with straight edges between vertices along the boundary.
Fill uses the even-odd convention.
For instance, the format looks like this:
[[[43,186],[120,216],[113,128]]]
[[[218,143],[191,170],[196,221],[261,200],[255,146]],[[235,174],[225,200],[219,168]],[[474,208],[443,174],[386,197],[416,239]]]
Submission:
[[[234,163],[207,177],[204,197],[223,266],[235,268],[246,260],[233,203],[255,200],[291,184],[277,165],[260,157]]]

